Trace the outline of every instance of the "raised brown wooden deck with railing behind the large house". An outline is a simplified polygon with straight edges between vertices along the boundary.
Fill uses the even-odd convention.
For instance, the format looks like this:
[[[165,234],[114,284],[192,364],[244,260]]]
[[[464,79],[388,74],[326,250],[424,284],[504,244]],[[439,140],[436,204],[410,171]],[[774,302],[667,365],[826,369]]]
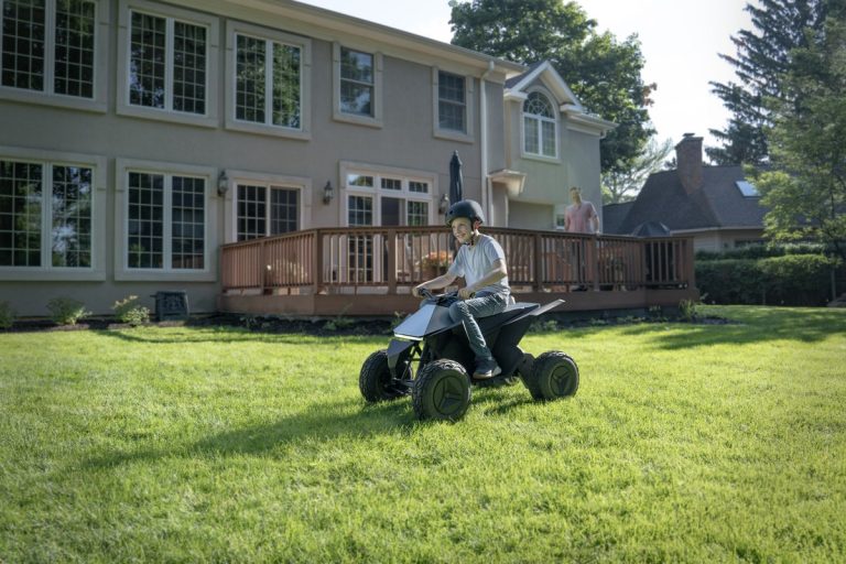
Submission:
[[[506,251],[518,301],[561,297],[572,312],[673,307],[697,300],[693,239],[488,228]],[[392,316],[417,308],[411,288],[445,272],[440,226],[334,228],[230,243],[221,250],[228,313]]]

